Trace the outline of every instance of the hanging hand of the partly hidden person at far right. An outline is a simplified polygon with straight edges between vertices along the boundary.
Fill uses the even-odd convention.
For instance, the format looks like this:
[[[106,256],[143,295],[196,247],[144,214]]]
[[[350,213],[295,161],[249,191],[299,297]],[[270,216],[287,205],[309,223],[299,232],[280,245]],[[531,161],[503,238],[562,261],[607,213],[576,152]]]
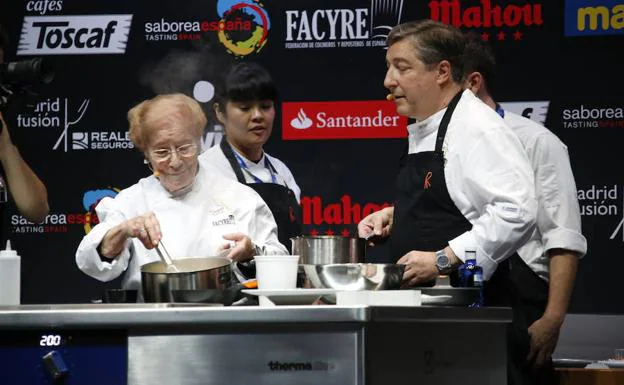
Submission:
[[[527,361],[534,369],[542,367],[555,351],[562,321],[543,316],[529,326],[531,338]]]

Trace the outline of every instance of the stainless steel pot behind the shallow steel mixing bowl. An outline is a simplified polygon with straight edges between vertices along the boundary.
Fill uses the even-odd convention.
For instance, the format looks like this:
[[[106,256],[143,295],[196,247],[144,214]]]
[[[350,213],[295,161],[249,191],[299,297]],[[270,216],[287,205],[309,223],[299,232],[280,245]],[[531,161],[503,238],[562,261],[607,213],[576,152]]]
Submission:
[[[300,236],[290,238],[293,255],[299,255],[301,265],[360,263],[364,261],[365,241],[334,235]]]

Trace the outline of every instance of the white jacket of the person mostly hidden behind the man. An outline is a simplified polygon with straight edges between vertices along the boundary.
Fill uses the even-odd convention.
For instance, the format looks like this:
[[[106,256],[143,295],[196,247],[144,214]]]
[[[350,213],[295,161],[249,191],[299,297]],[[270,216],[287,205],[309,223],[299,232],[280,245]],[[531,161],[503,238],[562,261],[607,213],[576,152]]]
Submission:
[[[568,148],[546,127],[521,115],[505,111],[504,120],[529,156],[538,202],[537,227],[529,241],[518,249],[518,254],[548,281],[547,250],[564,248],[581,256],[587,252]]]

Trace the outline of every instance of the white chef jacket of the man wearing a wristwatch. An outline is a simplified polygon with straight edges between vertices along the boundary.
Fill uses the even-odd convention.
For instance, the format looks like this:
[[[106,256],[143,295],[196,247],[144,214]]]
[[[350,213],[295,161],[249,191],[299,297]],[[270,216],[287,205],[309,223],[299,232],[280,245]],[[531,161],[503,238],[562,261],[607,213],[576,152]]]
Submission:
[[[409,153],[434,151],[446,108],[408,126]],[[537,202],[533,172],[522,144],[503,119],[465,90],[442,146],[446,187],[472,229],[449,240],[465,261],[477,248],[477,264],[489,279],[533,232]]]

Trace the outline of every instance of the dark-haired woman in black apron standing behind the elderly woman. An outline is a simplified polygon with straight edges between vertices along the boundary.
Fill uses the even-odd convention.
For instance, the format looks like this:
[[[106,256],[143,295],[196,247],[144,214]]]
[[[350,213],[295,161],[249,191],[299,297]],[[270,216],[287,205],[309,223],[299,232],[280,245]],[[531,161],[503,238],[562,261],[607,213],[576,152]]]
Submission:
[[[216,95],[215,114],[225,129],[219,146],[200,161],[254,189],[271,209],[279,241],[301,235],[300,189],[288,167],[265,153],[271,136],[277,91],[268,71],[256,63],[235,64]]]

